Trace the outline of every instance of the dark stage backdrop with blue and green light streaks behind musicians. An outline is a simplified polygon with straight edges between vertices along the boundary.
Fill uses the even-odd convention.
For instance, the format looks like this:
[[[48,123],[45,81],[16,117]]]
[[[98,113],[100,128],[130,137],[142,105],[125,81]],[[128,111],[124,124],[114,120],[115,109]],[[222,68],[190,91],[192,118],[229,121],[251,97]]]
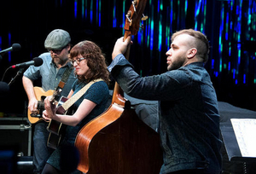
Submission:
[[[193,28],[204,32],[212,46],[206,68],[212,77],[218,101],[256,110],[256,34],[253,30],[256,8],[253,1],[240,2],[148,1],[144,11],[148,15],[148,20],[143,22],[145,30],[132,38],[130,61],[137,73],[148,76],[166,72],[165,54],[171,44],[172,32]],[[130,5],[131,1],[127,0],[1,1],[0,49],[7,49],[15,43],[21,45],[20,51],[3,55],[1,79],[9,83],[19,71],[8,69],[10,66],[31,61],[44,53],[44,40],[56,28],[69,32],[73,45],[84,39],[96,42],[109,64],[113,45],[123,36],[123,10],[126,13]],[[196,11],[199,12],[197,15]],[[9,86],[9,93],[2,94],[0,112],[18,116],[26,114],[27,98],[21,78],[16,78]]]

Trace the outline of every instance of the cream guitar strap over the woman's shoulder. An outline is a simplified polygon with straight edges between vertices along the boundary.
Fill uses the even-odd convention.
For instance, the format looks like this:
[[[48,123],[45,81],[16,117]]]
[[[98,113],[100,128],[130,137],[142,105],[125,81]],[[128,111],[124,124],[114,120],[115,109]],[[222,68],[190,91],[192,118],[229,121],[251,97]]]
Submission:
[[[67,111],[69,107],[73,105],[73,103],[77,102],[81,96],[84,95],[84,93],[90,88],[91,84],[94,84],[96,82],[103,81],[102,78],[97,78],[95,80],[91,80],[90,83],[86,84],[81,90],[79,90],[76,94],[71,96],[67,102],[64,102],[61,107]]]

